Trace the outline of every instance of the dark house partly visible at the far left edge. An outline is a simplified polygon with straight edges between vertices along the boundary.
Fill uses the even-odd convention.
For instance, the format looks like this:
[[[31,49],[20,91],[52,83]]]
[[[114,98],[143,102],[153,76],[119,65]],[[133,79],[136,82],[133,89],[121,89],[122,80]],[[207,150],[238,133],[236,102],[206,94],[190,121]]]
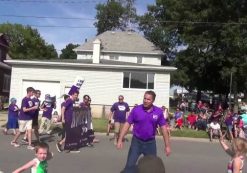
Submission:
[[[8,57],[9,44],[6,36],[0,33],[0,96],[9,97],[11,67],[4,60]]]

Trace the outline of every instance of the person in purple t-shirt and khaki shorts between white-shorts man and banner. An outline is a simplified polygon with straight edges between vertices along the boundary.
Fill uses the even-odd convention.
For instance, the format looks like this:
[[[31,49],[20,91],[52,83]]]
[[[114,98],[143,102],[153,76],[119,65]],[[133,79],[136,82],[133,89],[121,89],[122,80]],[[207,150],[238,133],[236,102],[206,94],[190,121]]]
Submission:
[[[39,126],[39,134],[51,134],[50,127],[52,111],[53,109],[56,109],[56,103],[50,102],[50,94],[46,94],[45,97],[46,100],[41,105],[41,109],[43,109],[43,115]]]

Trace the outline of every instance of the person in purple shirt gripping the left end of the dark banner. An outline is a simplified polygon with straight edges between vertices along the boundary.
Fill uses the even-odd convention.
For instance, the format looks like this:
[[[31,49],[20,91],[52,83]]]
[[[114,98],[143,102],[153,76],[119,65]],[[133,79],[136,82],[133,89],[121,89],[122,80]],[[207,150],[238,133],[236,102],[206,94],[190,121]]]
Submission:
[[[70,96],[69,99],[66,100],[65,104],[62,107],[61,110],[61,116],[62,116],[62,123],[65,124],[65,138],[63,140],[59,141],[56,143],[56,147],[58,152],[62,152],[62,145],[65,143],[66,140],[66,134],[68,133],[67,131],[70,130],[70,126],[72,123],[72,115],[73,115],[73,105],[74,102],[77,100],[79,95],[78,91],[74,91],[73,94]],[[80,152],[80,150],[78,150]]]

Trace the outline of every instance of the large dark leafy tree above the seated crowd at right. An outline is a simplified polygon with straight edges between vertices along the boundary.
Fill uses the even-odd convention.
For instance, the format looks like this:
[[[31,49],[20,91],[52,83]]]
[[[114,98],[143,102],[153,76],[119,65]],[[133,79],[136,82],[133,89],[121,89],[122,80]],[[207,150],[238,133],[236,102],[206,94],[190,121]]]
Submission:
[[[178,67],[176,84],[193,90],[246,91],[247,2],[156,0],[140,17],[140,29]],[[177,51],[179,45],[185,49]]]

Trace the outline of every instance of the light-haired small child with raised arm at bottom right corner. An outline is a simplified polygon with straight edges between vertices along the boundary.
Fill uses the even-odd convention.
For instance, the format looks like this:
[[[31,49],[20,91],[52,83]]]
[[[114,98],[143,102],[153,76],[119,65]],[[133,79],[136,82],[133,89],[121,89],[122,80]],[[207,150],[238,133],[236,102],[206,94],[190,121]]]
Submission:
[[[247,153],[247,140],[243,138],[234,138],[232,140],[232,147],[229,148],[222,137],[220,138],[220,144],[226,153],[231,156],[231,160],[227,165],[227,172],[242,173],[245,155]]]

